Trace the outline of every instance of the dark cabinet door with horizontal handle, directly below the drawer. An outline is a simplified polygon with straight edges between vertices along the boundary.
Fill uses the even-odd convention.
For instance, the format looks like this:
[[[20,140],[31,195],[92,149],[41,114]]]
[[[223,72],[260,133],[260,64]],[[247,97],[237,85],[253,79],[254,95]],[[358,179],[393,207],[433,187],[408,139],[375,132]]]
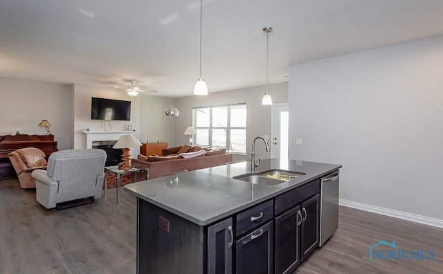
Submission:
[[[238,239],[236,243],[235,270],[237,274],[273,273],[272,221],[254,232]]]

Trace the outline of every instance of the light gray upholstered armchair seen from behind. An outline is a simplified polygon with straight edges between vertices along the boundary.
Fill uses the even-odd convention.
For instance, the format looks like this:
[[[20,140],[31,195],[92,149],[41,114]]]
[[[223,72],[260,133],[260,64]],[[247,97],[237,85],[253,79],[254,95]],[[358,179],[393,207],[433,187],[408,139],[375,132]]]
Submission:
[[[47,170],[34,170],[37,201],[55,208],[66,201],[102,196],[107,154],[102,149],[66,149],[49,156]]]

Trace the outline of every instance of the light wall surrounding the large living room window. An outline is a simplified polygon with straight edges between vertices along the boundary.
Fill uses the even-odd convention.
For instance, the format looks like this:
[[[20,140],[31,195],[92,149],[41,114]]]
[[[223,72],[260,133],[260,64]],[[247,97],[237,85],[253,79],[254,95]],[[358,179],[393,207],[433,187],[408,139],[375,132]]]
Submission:
[[[246,89],[210,93],[208,96],[195,95],[177,98],[176,106],[180,111],[180,115],[174,118],[177,120],[175,123],[176,145],[188,143],[189,136],[183,135],[183,132],[186,130],[186,127],[192,125],[192,107],[246,103],[246,156],[235,156],[234,160],[248,160],[251,154],[251,140],[254,136],[271,134],[271,106],[262,106],[264,91],[264,86],[255,86]],[[269,93],[272,96],[273,102],[287,102],[288,83],[270,84]],[[257,143],[255,150],[256,158],[271,158],[271,154],[266,153],[263,144]]]

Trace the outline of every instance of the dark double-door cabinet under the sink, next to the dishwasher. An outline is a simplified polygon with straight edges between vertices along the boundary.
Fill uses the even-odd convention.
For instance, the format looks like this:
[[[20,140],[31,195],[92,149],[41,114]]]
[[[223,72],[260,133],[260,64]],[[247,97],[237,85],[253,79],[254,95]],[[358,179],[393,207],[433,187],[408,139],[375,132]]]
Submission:
[[[319,187],[313,181],[275,198],[275,273],[292,273],[318,246]]]

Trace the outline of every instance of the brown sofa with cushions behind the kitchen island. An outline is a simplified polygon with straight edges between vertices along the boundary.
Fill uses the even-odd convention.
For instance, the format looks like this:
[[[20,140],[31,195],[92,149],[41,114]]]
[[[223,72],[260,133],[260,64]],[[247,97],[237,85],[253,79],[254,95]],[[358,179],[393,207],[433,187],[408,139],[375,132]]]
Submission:
[[[165,156],[138,155],[137,158],[132,159],[132,165],[134,167],[149,167],[150,179],[154,179],[166,174],[172,174],[174,172],[199,170],[201,168],[224,165],[233,161],[233,154],[226,154],[226,149],[206,148],[206,154],[193,158],[183,158],[179,154],[190,152],[198,153],[202,149],[201,147],[187,146],[188,147],[180,146],[180,148],[183,147],[181,150],[180,148],[177,149],[177,147],[162,149],[162,154]],[[138,178],[136,178],[136,181],[138,181]]]

